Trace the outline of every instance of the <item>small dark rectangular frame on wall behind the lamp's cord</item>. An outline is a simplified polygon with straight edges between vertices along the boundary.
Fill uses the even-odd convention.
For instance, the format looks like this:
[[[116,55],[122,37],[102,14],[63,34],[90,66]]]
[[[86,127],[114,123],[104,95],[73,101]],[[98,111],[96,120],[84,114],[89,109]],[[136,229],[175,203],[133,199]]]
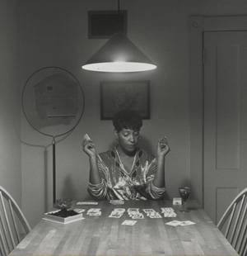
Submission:
[[[127,35],[127,11],[89,11],[88,38],[110,38],[115,33]]]

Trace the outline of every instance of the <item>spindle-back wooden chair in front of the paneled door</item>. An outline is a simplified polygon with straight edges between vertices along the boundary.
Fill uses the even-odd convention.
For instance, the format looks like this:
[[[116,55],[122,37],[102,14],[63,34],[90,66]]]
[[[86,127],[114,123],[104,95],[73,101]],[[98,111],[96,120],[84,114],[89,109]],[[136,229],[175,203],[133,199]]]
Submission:
[[[247,188],[231,202],[217,224],[240,256],[247,256]]]

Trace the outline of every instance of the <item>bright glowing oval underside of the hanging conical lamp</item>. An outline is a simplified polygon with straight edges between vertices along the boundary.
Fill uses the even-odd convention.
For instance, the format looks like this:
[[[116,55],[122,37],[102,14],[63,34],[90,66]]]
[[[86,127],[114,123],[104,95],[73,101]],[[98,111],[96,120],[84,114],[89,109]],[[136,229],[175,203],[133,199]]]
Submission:
[[[105,62],[86,64],[82,69],[99,72],[138,72],[156,69],[156,65],[138,62]]]

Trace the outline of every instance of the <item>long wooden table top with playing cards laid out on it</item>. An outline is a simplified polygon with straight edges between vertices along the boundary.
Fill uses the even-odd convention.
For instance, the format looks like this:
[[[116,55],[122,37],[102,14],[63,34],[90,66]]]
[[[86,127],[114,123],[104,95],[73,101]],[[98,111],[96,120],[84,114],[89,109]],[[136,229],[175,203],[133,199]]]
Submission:
[[[85,209],[84,219],[67,224],[42,219],[10,255],[238,255],[202,207],[193,200],[188,205],[190,211],[181,212],[172,201],[74,203],[72,208]],[[165,217],[161,207],[172,207],[176,216]],[[100,208],[101,216],[87,215],[91,208]],[[110,217],[115,208],[124,208],[123,216]],[[138,208],[144,218],[123,225],[133,220],[129,208]],[[153,209],[161,218],[151,218],[143,209]],[[194,224],[167,225],[172,220]]]

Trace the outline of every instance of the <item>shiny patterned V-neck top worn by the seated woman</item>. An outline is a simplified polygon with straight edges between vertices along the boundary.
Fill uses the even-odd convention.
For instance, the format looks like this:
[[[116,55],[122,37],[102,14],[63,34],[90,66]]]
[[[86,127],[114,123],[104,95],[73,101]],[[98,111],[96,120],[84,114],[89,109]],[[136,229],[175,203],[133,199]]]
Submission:
[[[96,200],[158,200],[165,194],[165,187],[156,187],[156,158],[143,149],[137,149],[133,168],[128,173],[116,148],[97,155],[100,184],[89,184],[88,192]]]

